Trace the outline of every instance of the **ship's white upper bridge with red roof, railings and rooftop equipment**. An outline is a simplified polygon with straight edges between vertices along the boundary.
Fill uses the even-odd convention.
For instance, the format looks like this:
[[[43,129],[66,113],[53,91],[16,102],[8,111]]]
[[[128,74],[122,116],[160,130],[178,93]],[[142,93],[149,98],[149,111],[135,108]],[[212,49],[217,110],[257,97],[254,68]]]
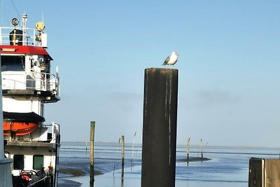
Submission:
[[[52,57],[47,48],[47,34],[43,22],[34,29],[22,27],[14,18],[14,27],[0,27],[0,53],[3,95],[36,95],[45,102],[59,100],[58,72],[51,74]],[[58,69],[57,69],[58,70]]]

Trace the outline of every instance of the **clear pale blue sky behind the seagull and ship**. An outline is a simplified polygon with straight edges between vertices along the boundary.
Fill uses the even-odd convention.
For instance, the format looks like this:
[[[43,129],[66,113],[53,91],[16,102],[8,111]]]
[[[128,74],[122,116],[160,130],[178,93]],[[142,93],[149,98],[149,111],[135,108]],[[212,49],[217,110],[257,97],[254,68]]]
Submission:
[[[180,53],[178,144],[279,146],[280,1],[19,1],[44,15],[62,141],[142,139],[144,69]],[[18,13],[2,1],[1,25]],[[208,143],[207,143],[208,142]]]

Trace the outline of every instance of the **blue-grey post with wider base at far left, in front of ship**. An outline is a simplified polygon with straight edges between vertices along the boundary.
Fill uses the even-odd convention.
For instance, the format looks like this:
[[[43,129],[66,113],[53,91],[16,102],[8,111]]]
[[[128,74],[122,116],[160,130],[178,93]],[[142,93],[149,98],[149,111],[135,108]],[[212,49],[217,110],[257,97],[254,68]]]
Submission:
[[[0,58],[1,65],[1,58]],[[0,98],[2,98],[2,84],[1,84],[1,74],[0,74]],[[0,99],[0,124],[3,124],[3,110],[2,110],[2,99]],[[0,186],[13,187],[12,175],[10,169],[10,163],[12,160],[5,158],[4,148],[3,148],[3,125],[0,125]]]

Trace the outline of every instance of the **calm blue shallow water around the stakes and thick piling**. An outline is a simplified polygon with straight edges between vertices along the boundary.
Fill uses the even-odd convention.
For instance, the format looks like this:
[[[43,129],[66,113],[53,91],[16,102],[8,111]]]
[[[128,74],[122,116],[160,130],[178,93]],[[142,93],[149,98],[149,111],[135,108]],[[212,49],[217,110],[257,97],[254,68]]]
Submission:
[[[183,161],[186,160],[185,149],[186,146],[177,147],[176,187],[245,187],[248,186],[250,158],[279,158],[278,148],[207,146],[204,148],[204,157],[211,160],[186,163]],[[190,156],[200,155],[199,147],[190,148]],[[62,179],[76,181],[72,183],[72,187],[78,186],[78,183],[80,186],[89,186],[90,155],[89,151],[85,150],[85,145],[62,144],[59,159],[60,168],[80,169],[85,174],[84,176],[60,174],[59,186],[65,186]],[[94,186],[141,186],[141,146],[134,146],[133,153],[131,145],[125,148],[125,169],[124,177],[122,177],[119,145],[96,144],[94,145],[94,169],[103,173],[94,177]]]

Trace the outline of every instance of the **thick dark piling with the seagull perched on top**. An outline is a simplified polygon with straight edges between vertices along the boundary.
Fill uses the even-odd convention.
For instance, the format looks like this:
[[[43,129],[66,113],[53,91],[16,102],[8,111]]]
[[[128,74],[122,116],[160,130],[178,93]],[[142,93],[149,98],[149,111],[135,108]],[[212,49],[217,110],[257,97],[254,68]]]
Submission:
[[[145,69],[141,187],[174,187],[178,69]]]

